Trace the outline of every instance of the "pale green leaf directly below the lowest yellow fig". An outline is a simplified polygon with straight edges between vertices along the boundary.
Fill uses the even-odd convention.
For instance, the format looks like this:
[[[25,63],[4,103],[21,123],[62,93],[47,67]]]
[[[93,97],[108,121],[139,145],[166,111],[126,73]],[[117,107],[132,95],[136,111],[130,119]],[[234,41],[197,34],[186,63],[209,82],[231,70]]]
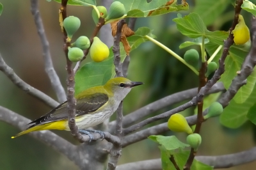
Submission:
[[[189,147],[189,144],[180,142],[175,135],[150,135],[148,138],[152,139],[152,141],[155,141],[156,143],[163,145],[166,150],[176,150],[178,148]]]

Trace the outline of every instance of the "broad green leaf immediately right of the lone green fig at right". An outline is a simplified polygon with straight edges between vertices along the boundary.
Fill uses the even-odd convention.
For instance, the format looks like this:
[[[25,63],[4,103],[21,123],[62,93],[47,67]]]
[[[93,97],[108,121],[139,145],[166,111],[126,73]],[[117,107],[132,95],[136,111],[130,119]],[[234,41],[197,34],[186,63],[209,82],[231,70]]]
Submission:
[[[248,120],[246,114],[256,101],[256,88],[253,89],[250,97],[243,104],[237,104],[231,100],[220,116],[220,122],[225,127],[238,128]]]

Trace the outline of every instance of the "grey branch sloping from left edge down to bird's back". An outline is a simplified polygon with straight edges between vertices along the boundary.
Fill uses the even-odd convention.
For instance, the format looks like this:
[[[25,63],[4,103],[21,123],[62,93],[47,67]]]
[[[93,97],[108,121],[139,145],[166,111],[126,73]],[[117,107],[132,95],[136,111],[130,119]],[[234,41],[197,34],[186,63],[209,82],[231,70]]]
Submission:
[[[29,95],[38,98],[39,100],[44,102],[44,104],[47,104],[51,107],[56,107],[56,105],[59,105],[58,102],[53,100],[51,97],[45,95],[44,93],[42,93],[42,91],[39,91],[38,89],[35,89],[29,84],[27,84],[26,82],[22,81],[22,79],[18,77],[18,75],[13,71],[13,69],[10,68],[10,66],[6,65],[1,54],[0,54],[0,70],[13,82],[13,84],[18,86],[20,89],[24,90]]]

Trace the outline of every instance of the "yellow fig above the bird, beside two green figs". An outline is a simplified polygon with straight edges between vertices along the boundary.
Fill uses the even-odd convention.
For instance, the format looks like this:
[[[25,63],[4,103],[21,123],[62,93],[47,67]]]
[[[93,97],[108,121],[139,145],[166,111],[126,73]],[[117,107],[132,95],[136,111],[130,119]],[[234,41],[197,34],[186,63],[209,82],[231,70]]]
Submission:
[[[109,56],[108,46],[100,41],[100,38],[97,36],[93,38],[93,43],[90,48],[90,56],[95,62],[103,61]]]

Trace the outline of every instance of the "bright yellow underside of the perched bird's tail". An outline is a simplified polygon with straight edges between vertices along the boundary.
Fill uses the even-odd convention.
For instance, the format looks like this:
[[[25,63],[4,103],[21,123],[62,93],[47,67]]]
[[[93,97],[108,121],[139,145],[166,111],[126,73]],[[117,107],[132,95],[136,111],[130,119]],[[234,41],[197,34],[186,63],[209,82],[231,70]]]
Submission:
[[[24,130],[15,136],[12,136],[12,139],[20,135],[28,134],[29,132],[38,131],[38,130],[51,130],[51,129],[67,130],[68,126],[66,122],[67,120],[61,120],[61,121],[54,121],[51,123],[45,123],[44,125],[37,125],[35,127],[28,128],[27,130]]]

